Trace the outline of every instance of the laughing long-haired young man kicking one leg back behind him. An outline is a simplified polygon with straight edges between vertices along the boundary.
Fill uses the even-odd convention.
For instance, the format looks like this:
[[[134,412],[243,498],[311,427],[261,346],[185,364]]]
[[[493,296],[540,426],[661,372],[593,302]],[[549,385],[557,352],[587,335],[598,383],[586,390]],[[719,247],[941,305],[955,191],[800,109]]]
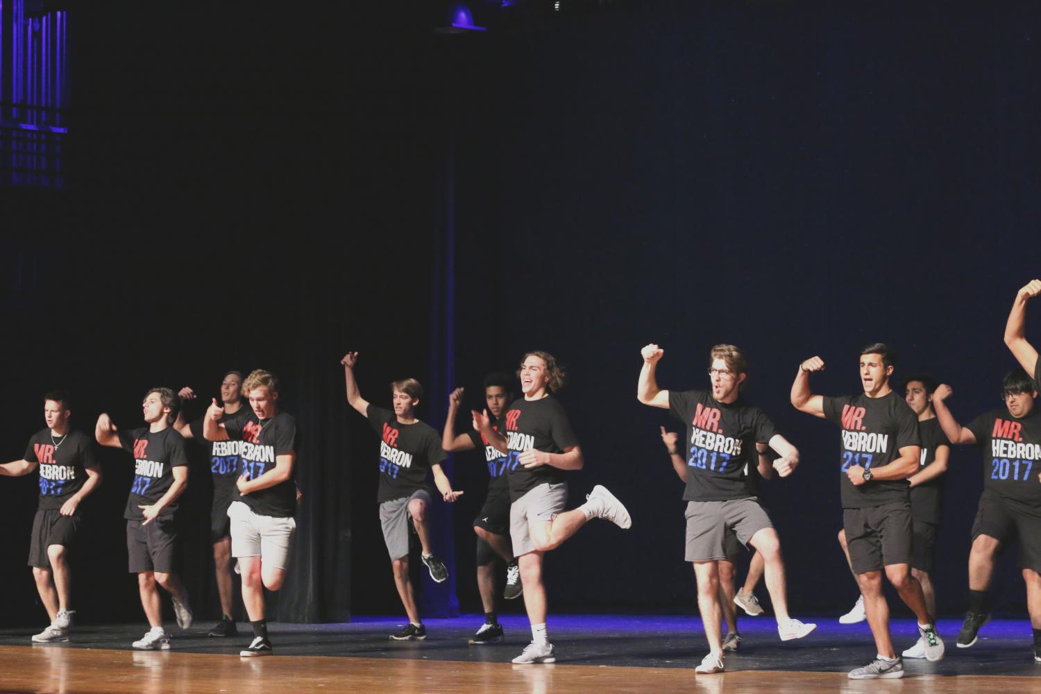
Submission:
[[[629,512],[601,485],[586,503],[572,511],[567,505],[565,471],[582,469],[582,449],[564,408],[551,392],[564,385],[564,371],[548,352],[529,352],[517,371],[524,397],[514,401],[503,417],[505,431],[492,428],[485,412],[472,412],[484,439],[509,456],[510,540],[520,566],[524,601],[532,641],[513,659],[517,665],[554,663],[556,654],[545,627],[545,587],[542,556],[559,547],[591,518],[632,525]]]

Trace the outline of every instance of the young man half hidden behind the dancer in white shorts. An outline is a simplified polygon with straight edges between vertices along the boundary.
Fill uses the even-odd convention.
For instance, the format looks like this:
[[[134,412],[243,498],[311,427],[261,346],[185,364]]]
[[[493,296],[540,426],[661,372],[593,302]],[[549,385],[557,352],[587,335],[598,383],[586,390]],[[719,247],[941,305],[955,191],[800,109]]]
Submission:
[[[228,371],[221,382],[221,405],[224,414],[221,421],[235,416],[243,407],[243,375],[238,371]],[[195,400],[192,388],[181,388],[182,401]],[[195,439],[209,448],[209,472],[213,481],[213,500],[209,512],[209,540],[213,543],[213,573],[217,577],[217,593],[221,599],[221,621],[209,631],[209,636],[237,636],[238,628],[231,616],[231,600],[233,575],[231,564],[231,519],[228,518],[228,507],[235,498],[235,483],[238,481],[238,447],[240,441],[206,441],[203,437],[203,427],[206,417],[202,416],[191,423],[184,420],[184,411],[177,415],[174,422],[181,436]]]

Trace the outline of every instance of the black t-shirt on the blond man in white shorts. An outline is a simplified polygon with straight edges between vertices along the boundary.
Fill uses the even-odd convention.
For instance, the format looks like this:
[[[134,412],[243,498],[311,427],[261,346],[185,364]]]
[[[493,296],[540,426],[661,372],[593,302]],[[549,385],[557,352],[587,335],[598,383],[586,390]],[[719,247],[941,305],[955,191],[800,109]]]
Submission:
[[[244,407],[224,422],[224,431],[229,439],[242,439],[238,446],[238,462],[242,474],[247,480],[274,469],[278,456],[295,454],[297,451],[297,420],[287,412],[276,412],[275,416],[261,421],[253,408]],[[260,516],[288,518],[297,512],[297,465],[293,464],[289,479],[274,487],[250,492],[245,496],[235,487],[235,500],[243,502],[253,513]]]

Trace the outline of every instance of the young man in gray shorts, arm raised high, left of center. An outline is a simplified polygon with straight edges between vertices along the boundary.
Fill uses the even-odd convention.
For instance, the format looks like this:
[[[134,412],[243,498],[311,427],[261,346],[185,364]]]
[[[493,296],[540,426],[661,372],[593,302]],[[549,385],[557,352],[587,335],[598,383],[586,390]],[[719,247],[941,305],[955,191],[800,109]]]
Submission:
[[[380,486],[377,500],[380,504],[380,523],[383,541],[390,555],[395,586],[401,598],[408,624],[401,632],[390,635],[395,641],[422,641],[427,628],[420,617],[415,591],[408,574],[408,521],[412,520],[422,545],[422,559],[430,577],[443,583],[448,569],[430,549],[430,529],[427,525],[427,507],[433,499],[427,487],[427,470],[434,474],[434,484],[446,502],[454,502],[461,491],[453,491],[441,461],[448,456],[441,448],[440,437],[430,425],[415,417],[415,408],[423,397],[423,386],[415,379],[404,379],[390,384],[393,410],[371,405],[361,396],[354,366],[358,353],[348,352],[340,360],[347,386],[347,402],[369,419],[369,425],[380,436]]]

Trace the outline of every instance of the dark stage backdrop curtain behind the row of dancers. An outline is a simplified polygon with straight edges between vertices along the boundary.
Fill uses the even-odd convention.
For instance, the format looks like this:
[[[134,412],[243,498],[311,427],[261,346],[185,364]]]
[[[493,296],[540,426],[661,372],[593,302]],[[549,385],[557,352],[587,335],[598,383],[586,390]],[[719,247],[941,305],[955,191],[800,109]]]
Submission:
[[[682,488],[657,435],[679,422],[636,402],[639,349],[662,344],[660,383],[688,388],[706,384],[708,349],[734,342],[753,360],[747,397],[803,452],[766,490],[792,611],[848,608],[838,433],[791,408],[791,379],[818,354],[814,388],[856,391],[859,348],[885,340],[897,377],[954,385],[960,418],[1001,406],[1005,315],[1039,274],[1041,9],[619,2],[435,36],[407,11],[422,4],[309,16],[302,33],[255,5],[72,17],[67,189],[0,189],[3,458],[43,427],[49,387],[76,392],[80,428],[101,411],[130,427],[153,385],[209,397],[227,368],[270,368],[304,434],[274,616],[397,614],[376,437],[344,402],[340,356],[361,352],[373,402],[420,378],[439,428],[453,386],[477,406],[485,371],[545,349],[568,366],[561,400],[587,461],[573,503],[603,483],[634,519],[549,556],[552,609],[691,611]],[[945,613],[965,607],[981,458],[957,451],[946,475]],[[87,621],[139,619],[129,459],[104,463],[75,601]],[[469,522],[486,475],[473,454],[453,465],[466,495],[435,504],[451,529],[438,550],[458,609],[478,611]],[[184,572],[215,617],[196,471]],[[33,489],[0,481],[15,623],[41,621],[23,566]],[[451,585],[423,588],[427,614],[454,612]],[[994,592],[1023,609],[1011,557]]]

